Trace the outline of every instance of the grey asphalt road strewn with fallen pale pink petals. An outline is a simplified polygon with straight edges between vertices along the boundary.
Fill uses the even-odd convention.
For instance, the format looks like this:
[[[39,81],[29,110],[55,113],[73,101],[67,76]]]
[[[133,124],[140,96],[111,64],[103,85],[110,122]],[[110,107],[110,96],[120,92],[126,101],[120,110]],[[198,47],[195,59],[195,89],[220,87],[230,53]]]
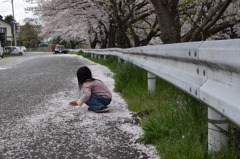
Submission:
[[[76,71],[86,65],[111,89],[112,73],[76,55],[25,53],[0,59],[0,159],[157,159],[136,143],[123,99],[113,92],[110,112],[70,107],[79,97]]]

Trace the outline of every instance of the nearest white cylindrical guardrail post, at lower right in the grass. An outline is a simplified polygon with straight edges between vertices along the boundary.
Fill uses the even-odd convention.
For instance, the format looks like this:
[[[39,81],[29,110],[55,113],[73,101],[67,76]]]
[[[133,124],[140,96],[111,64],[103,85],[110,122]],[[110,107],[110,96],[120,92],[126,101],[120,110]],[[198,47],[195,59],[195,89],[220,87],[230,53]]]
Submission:
[[[224,134],[228,131],[228,121],[221,114],[208,107],[208,150],[220,151],[227,145],[228,138]]]

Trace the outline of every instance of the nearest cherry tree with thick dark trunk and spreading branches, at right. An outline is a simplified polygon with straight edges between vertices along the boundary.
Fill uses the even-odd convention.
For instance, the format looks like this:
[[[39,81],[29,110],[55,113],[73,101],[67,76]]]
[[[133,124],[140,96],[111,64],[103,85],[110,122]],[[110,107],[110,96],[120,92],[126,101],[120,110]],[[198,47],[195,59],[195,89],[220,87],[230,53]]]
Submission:
[[[239,0],[151,0],[164,43],[199,41],[233,29],[240,22]],[[232,31],[233,31],[232,30]],[[239,32],[238,32],[239,36]],[[215,38],[218,36],[215,36]]]

